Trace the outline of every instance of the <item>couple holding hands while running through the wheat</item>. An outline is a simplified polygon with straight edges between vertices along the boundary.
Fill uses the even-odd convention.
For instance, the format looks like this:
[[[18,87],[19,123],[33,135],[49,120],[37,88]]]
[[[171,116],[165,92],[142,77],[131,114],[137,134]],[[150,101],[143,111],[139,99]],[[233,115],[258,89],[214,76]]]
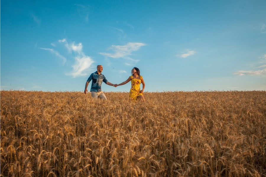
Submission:
[[[101,86],[102,86],[102,82],[106,83],[109,86],[121,86],[124,85],[126,83],[128,83],[129,81],[131,81],[131,89],[129,91],[129,98],[131,100],[142,100],[145,101],[145,98],[143,96],[143,91],[145,88],[145,83],[144,80],[142,78],[142,76],[140,76],[140,70],[139,68],[134,67],[131,70],[132,76],[129,76],[129,78],[120,83],[120,84],[112,84],[110,82],[107,81],[107,79],[105,78],[105,76],[102,74],[103,72],[103,66],[102,65],[98,65],[97,66],[97,71],[95,73],[91,73],[90,77],[87,79],[86,85],[85,85],[85,90],[84,93],[86,94],[88,92],[87,87],[90,83],[91,80],[93,80],[92,84],[91,84],[91,96],[93,98],[100,98],[100,99],[107,99],[106,96],[104,95],[103,91],[101,90]],[[140,83],[142,83],[142,90],[140,90]]]

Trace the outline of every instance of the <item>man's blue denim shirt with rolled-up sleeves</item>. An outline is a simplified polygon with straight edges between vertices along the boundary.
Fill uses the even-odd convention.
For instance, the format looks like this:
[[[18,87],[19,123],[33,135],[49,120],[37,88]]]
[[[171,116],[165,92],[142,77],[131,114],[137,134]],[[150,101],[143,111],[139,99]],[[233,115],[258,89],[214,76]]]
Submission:
[[[95,73],[91,73],[87,81],[90,83],[91,80],[93,80],[93,82],[91,83],[90,91],[95,91],[95,92],[102,91],[102,88],[101,88],[102,83],[108,82],[105,76],[102,73],[100,73],[99,75],[97,71]]]

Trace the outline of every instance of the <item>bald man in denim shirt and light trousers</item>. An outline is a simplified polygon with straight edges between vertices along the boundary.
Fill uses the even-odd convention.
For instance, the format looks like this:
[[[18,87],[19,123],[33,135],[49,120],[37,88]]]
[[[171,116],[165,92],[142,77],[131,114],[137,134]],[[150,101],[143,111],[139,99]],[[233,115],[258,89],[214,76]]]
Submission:
[[[109,86],[114,86],[114,84],[108,82],[107,79],[105,78],[105,76],[101,72],[103,72],[103,66],[98,65],[97,71],[95,73],[91,73],[90,77],[88,78],[86,85],[85,85],[84,93],[86,94],[88,92],[87,87],[88,87],[90,81],[93,80],[93,82],[91,84],[91,88],[90,88],[91,96],[93,98],[99,97],[100,99],[107,100],[106,96],[104,95],[104,93],[101,89],[102,82],[106,83]]]

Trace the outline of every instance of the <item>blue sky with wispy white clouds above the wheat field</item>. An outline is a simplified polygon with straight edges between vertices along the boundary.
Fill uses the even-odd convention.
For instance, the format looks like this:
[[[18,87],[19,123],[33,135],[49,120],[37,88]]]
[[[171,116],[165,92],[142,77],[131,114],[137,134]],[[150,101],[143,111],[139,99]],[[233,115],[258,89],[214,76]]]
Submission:
[[[1,90],[265,90],[266,1],[1,1]],[[89,84],[89,89],[90,89]],[[130,83],[103,91],[129,91]]]

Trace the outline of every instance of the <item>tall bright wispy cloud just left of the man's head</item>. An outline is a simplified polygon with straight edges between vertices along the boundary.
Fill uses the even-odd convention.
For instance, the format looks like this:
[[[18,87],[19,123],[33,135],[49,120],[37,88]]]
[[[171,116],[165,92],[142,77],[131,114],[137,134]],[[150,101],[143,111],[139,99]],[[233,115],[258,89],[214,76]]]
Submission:
[[[88,71],[94,61],[91,57],[83,53],[82,43],[80,42],[78,45],[75,45],[75,42],[72,42],[72,44],[69,45],[66,39],[58,40],[58,42],[64,42],[67,50],[70,52],[74,51],[76,55],[75,63],[72,65],[72,71],[70,73],[66,73],[66,75],[73,76],[74,78],[88,75]]]

